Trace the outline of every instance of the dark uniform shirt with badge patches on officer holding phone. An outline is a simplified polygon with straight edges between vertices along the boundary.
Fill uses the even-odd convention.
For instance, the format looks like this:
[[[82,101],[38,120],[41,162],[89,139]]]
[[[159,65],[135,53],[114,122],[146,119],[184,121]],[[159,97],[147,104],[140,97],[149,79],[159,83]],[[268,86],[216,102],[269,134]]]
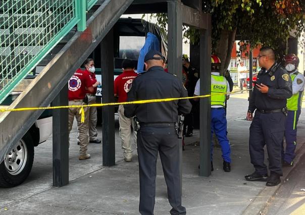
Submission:
[[[274,68],[274,66],[271,68]],[[257,87],[254,87],[249,100],[248,111],[251,113],[256,109],[282,109],[286,106],[287,98],[292,96],[291,78],[282,66],[279,66],[272,75],[269,75],[269,71],[262,69],[258,74],[257,83],[267,85],[269,90],[267,93],[262,93]]]

